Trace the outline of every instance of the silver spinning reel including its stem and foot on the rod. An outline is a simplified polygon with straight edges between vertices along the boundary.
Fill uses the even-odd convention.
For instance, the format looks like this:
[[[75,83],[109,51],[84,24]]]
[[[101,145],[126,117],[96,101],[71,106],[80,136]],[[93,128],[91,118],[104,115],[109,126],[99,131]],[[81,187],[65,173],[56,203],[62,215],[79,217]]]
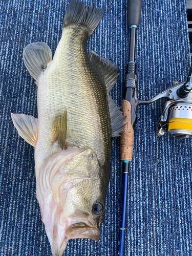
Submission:
[[[176,139],[187,139],[192,137],[192,63],[190,66],[189,75],[186,82],[174,81],[174,86],[168,88],[167,90],[157,94],[150,100],[138,100],[137,92],[130,88],[130,83],[125,79],[125,84],[129,88],[128,90],[133,90],[135,93],[132,94],[131,98],[128,99],[132,104],[132,126],[134,126],[136,121],[135,111],[140,104],[151,104],[152,102],[161,99],[163,97],[167,98],[168,101],[165,102],[163,106],[163,112],[160,116],[157,124],[157,134],[159,136],[164,135],[165,130]],[[126,85],[125,85],[126,87]],[[131,94],[130,94],[131,95]]]

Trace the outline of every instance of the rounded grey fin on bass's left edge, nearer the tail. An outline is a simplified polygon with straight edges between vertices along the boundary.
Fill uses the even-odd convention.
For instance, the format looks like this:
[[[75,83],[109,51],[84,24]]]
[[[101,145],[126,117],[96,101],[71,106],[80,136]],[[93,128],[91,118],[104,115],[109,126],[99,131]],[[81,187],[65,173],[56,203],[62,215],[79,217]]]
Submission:
[[[30,75],[38,83],[40,73],[47,68],[52,60],[52,52],[45,42],[32,42],[23,52],[24,63]]]

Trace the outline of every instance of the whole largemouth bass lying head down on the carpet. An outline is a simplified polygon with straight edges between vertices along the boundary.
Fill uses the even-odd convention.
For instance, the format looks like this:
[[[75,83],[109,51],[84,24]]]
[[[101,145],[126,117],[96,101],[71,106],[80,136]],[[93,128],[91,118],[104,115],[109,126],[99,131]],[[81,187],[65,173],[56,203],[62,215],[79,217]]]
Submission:
[[[125,124],[110,96],[118,69],[86,52],[103,9],[72,0],[52,59],[44,42],[24,49],[35,79],[38,119],[11,114],[18,134],[35,148],[36,196],[53,256],[69,239],[100,238],[110,177],[111,137]]]

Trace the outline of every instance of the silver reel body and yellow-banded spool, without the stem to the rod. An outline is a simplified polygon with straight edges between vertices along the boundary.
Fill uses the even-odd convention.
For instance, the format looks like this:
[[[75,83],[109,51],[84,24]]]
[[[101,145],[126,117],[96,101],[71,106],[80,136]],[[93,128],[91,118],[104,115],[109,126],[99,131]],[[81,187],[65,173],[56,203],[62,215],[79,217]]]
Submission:
[[[175,86],[168,89],[169,96],[164,95],[171,100],[165,102],[163,113],[158,121],[157,134],[159,136],[164,135],[164,126],[168,126],[167,132],[176,139],[192,137],[192,94],[190,93],[192,83],[191,77],[189,78],[190,80],[184,83],[175,81]],[[184,90],[186,87],[188,92]]]

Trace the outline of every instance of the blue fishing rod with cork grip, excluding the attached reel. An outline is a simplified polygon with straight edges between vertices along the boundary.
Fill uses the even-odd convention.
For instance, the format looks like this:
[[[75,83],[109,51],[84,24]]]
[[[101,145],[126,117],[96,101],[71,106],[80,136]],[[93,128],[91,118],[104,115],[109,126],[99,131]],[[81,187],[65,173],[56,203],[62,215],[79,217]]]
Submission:
[[[118,254],[124,255],[124,242],[126,230],[126,201],[127,201],[127,183],[130,162],[133,156],[134,125],[136,122],[135,99],[137,90],[137,75],[135,73],[135,45],[136,32],[141,21],[142,0],[127,0],[127,27],[130,30],[130,52],[129,62],[126,66],[125,91],[122,100],[122,112],[127,123],[124,127],[124,133],[120,137],[120,156],[122,161],[122,206],[119,225],[119,248]]]

